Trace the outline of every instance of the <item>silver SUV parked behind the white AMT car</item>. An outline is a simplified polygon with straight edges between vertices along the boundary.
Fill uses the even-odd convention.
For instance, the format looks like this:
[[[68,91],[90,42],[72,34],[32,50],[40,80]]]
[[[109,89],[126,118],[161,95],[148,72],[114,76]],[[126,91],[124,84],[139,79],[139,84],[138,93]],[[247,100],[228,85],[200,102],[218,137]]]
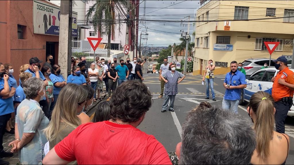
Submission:
[[[275,59],[271,59],[270,67],[275,67],[273,60]],[[250,58],[243,61],[242,64],[246,71],[246,75],[251,75],[261,69],[265,62],[269,64],[269,61],[270,59],[268,58]]]

